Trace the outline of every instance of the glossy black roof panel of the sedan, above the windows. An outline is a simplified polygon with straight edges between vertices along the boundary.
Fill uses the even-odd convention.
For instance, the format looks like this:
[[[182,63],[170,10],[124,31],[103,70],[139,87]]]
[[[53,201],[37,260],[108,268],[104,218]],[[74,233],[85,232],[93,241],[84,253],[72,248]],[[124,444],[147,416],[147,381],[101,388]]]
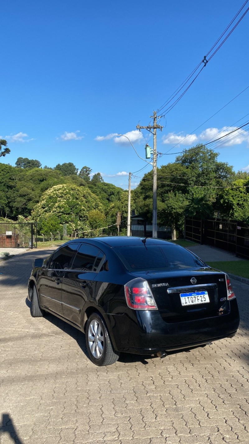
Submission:
[[[135,237],[135,236],[106,236],[103,238],[80,238],[69,242],[92,242],[96,245],[97,243],[106,244],[110,247],[120,247],[120,246],[135,246],[142,245],[142,240],[145,237]],[[175,245],[172,242],[165,241],[163,239],[146,238],[146,245]]]

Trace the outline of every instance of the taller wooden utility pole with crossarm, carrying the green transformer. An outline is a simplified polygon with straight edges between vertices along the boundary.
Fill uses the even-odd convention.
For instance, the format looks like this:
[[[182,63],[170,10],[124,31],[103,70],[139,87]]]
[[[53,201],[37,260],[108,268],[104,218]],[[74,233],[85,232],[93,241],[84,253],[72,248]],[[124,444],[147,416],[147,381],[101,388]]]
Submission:
[[[153,119],[153,125],[141,127],[137,125],[139,131],[145,129],[153,134],[153,219],[152,219],[152,237],[157,238],[157,129],[162,131],[163,127],[157,125],[158,119],[162,116],[157,116],[157,111],[153,111],[150,118]],[[153,130],[153,131],[152,131]]]

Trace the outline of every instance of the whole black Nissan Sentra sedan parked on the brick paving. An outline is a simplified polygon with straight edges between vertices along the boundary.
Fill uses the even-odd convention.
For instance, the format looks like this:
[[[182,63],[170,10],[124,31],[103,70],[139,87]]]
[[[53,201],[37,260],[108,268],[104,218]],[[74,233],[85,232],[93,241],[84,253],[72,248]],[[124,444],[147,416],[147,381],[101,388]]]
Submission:
[[[172,242],[76,239],[33,266],[32,316],[49,312],[84,332],[96,365],[113,364],[120,352],[164,357],[238,329],[229,277]]]

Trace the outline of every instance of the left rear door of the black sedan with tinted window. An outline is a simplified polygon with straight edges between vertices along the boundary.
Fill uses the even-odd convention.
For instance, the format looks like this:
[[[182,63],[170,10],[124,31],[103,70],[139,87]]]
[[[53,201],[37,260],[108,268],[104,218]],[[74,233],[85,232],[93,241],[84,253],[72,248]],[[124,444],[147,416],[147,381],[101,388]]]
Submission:
[[[93,280],[102,257],[96,246],[80,243],[71,270],[65,272],[61,293],[63,313],[66,319],[78,326],[85,302],[94,297]]]

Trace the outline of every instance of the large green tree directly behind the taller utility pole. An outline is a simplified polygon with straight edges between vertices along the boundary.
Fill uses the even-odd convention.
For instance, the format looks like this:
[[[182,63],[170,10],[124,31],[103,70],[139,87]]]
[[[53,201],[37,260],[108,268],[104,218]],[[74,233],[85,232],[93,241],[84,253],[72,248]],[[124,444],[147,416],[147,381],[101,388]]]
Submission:
[[[183,229],[185,211],[199,217],[213,215],[218,187],[234,180],[233,167],[217,157],[218,153],[199,144],[157,169],[158,222],[171,225],[173,239],[176,230]],[[147,220],[152,220],[152,181],[150,171],[134,190],[138,212]]]

